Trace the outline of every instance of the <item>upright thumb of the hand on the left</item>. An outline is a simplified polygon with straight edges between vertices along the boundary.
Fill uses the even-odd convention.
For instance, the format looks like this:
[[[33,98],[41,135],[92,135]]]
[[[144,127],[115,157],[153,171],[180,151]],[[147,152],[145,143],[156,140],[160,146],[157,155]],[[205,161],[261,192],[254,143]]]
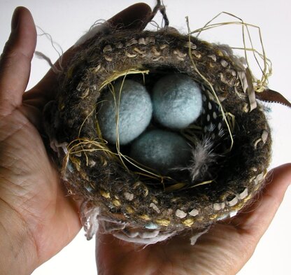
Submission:
[[[22,104],[36,47],[36,27],[27,8],[13,13],[11,34],[0,60],[0,106],[2,114]]]

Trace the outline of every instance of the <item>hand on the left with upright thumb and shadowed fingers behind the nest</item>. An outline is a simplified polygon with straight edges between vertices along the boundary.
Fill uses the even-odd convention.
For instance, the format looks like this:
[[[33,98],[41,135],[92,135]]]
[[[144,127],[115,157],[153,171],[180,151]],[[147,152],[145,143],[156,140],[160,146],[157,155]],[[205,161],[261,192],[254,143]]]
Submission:
[[[108,22],[136,27],[149,12],[136,4]],[[40,134],[43,107],[55,97],[55,73],[24,94],[35,46],[34,20],[29,10],[17,8],[0,60],[0,274],[31,274],[81,227],[78,207],[66,196]]]

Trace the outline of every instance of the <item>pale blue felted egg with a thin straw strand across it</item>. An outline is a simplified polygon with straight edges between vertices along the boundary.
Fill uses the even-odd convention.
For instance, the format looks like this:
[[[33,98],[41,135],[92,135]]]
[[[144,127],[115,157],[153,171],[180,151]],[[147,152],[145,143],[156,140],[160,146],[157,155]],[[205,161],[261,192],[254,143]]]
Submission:
[[[113,85],[113,92],[109,91],[101,103],[97,114],[99,127],[103,138],[115,143],[118,112],[119,143],[125,145],[136,139],[148,127],[152,118],[152,102],[146,87],[133,80],[125,80],[123,84],[122,81],[118,81]]]

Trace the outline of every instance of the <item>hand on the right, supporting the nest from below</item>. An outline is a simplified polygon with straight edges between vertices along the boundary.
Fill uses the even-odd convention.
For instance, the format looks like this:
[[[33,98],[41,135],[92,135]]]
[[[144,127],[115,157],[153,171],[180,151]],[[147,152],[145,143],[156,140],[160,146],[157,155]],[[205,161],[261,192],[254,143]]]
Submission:
[[[290,183],[291,164],[270,171],[253,204],[234,218],[213,225],[194,246],[188,235],[143,248],[99,234],[98,274],[234,275],[253,255]]]

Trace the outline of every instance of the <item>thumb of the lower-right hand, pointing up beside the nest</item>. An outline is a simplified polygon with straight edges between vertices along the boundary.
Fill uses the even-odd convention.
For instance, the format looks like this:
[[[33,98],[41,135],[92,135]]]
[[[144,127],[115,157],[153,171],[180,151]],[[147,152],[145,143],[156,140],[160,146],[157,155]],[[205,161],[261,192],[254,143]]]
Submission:
[[[266,232],[273,220],[285,192],[291,183],[291,164],[284,164],[269,172],[266,185],[261,194],[255,197],[253,204],[243,209],[237,217],[232,219],[243,233],[259,240]]]

